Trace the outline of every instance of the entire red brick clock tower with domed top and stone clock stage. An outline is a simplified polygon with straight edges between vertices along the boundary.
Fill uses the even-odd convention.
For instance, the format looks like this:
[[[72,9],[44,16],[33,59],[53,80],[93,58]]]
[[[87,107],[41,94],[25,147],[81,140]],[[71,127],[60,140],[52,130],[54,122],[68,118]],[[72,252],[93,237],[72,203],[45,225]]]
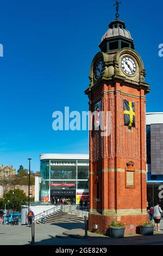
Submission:
[[[146,94],[142,59],[124,22],[112,21],[90,69],[90,111],[104,111],[90,131],[90,213],[93,224],[106,233],[112,220],[126,223],[135,233],[148,219],[146,198]],[[106,113],[109,123],[106,124]],[[96,126],[99,126],[99,130]]]

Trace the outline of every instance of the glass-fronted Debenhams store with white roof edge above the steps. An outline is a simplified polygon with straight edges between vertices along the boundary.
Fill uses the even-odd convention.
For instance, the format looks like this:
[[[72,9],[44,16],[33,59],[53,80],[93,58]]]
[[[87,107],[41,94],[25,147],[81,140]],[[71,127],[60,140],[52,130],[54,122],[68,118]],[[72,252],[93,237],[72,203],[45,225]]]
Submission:
[[[66,199],[77,204],[81,198],[89,202],[89,155],[42,154],[40,177],[41,202]]]

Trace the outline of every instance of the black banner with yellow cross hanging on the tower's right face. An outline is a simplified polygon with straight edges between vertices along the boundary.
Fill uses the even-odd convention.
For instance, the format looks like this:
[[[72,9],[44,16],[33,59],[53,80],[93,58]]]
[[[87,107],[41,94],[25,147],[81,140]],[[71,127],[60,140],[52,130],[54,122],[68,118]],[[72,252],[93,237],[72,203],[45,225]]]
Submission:
[[[135,102],[123,100],[124,125],[135,127]]]

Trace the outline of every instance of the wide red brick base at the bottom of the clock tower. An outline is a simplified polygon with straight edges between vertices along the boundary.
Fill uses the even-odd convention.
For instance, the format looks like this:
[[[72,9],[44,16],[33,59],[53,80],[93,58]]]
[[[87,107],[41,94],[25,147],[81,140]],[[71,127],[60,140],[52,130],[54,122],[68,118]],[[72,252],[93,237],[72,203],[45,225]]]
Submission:
[[[149,215],[125,215],[125,216],[106,216],[89,214],[89,230],[96,231],[93,229],[93,225],[98,225],[98,231],[101,231],[104,235],[108,234],[108,228],[111,221],[124,222],[125,233],[124,234],[139,234],[139,223],[148,221]]]

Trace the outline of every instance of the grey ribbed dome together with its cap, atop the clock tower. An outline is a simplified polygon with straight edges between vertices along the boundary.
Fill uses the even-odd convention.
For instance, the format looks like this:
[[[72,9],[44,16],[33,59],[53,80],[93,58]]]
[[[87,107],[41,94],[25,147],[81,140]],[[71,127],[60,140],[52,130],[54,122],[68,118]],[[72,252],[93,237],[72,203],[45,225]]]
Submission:
[[[112,21],[109,25],[108,31],[103,35],[102,40],[105,40],[106,38],[112,38],[115,36],[123,36],[124,38],[128,38],[130,40],[133,40],[131,38],[130,32],[127,31],[126,26],[123,21]]]

